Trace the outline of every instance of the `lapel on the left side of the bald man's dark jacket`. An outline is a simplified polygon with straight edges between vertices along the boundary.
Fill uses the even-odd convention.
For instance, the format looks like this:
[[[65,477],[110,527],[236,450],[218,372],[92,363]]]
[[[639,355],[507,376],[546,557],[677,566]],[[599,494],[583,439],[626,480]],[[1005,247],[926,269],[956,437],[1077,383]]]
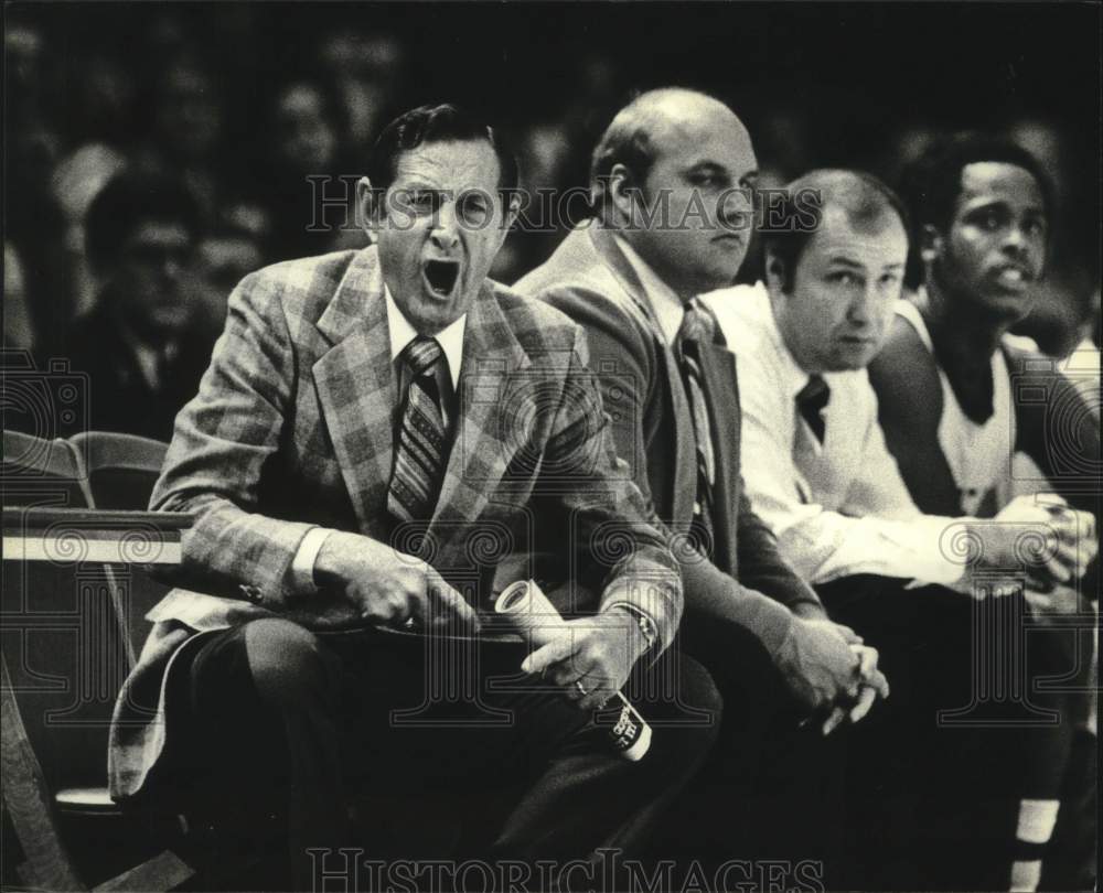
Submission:
[[[666,345],[666,338],[658,325],[655,311],[644,294],[643,284],[635,275],[635,270],[632,269],[629,259],[624,257],[624,252],[617,245],[612,233],[595,223],[585,232],[579,230],[578,234],[582,237],[589,236],[590,245],[598,259],[602,260],[612,271],[621,288],[647,320],[655,336],[656,347],[661,352],[660,356],[665,366],[666,392],[671,395],[671,412],[675,420],[674,492],[667,502],[667,505],[671,506],[671,517],[663,518],[663,520],[688,519],[693,516],[693,504],[697,492],[697,456],[694,454],[694,444],[687,437],[688,432],[693,430],[693,413],[689,410],[689,401],[686,398],[685,386],[682,383],[674,351]]]

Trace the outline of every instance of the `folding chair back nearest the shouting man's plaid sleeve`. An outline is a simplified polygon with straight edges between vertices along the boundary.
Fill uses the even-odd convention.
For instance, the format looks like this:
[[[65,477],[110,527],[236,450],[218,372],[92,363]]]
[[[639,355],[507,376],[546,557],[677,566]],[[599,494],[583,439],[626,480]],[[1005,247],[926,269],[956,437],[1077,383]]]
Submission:
[[[84,464],[94,507],[140,510],[149,506],[167,444],[113,431],[83,432],[69,442]],[[149,635],[146,614],[169,588],[140,568],[116,567],[114,572],[119,612],[125,617],[131,649],[137,654]]]

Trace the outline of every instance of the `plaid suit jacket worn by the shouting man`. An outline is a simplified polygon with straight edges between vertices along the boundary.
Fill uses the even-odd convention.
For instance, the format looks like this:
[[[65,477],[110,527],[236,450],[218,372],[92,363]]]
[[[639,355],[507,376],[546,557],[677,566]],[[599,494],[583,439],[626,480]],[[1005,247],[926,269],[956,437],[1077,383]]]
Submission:
[[[148,615],[154,628],[116,704],[117,798],[141,788],[163,749],[165,673],[197,633],[274,613],[320,630],[355,621],[340,595],[296,590],[291,561],[317,525],[417,555],[480,607],[506,556],[550,555],[582,584],[563,591],[561,611],[627,600],[655,617],[664,644],[673,637],[677,566],[615,456],[585,336],[496,283],[483,284],[468,314],[436,512],[427,527],[394,526],[397,392],[383,294],[367,248],[269,267],[231,295],[151,499],[196,520],[182,544],[188,589]]]

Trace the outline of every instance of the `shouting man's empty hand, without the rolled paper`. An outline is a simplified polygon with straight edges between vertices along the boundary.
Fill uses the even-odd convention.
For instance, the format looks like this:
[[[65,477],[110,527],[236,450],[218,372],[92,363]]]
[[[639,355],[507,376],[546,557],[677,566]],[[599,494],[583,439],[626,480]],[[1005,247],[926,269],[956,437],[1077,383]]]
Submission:
[[[471,634],[471,605],[429,564],[358,534],[334,531],[314,563],[318,579],[341,590],[368,623]]]

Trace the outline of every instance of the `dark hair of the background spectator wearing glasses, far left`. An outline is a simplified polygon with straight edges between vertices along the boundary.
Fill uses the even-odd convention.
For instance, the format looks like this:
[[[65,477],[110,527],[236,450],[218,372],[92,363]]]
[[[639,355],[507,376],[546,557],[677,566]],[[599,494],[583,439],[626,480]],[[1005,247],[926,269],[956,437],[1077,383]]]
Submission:
[[[85,217],[85,248],[93,269],[118,259],[135,227],[153,220],[181,224],[192,241],[200,235],[200,206],[182,180],[168,173],[125,170],[108,181]]]

